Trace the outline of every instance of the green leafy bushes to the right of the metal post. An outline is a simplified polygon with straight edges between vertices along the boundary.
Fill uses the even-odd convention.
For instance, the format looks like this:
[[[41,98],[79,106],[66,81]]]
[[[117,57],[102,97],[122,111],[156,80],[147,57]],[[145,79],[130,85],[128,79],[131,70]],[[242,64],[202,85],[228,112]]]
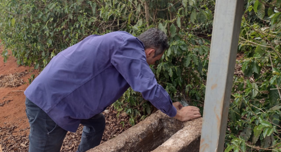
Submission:
[[[245,10],[239,41],[244,76],[234,76],[225,151],[281,151],[281,1],[248,1]]]

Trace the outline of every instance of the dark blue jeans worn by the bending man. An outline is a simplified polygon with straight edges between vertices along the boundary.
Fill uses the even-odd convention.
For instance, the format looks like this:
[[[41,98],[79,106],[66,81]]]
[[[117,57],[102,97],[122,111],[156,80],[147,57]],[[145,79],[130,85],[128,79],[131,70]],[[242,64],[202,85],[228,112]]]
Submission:
[[[41,108],[26,98],[26,114],[30,124],[28,152],[59,152],[67,130],[58,126]],[[77,152],[84,152],[100,145],[105,128],[102,113],[87,120],[84,125]]]

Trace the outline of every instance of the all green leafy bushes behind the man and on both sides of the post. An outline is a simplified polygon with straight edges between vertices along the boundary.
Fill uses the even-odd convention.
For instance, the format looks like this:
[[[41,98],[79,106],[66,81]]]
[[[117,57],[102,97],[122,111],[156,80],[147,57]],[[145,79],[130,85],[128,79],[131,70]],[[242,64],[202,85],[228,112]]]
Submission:
[[[0,39],[18,64],[41,70],[58,52],[90,34],[123,30],[138,36],[158,27],[170,48],[151,66],[173,101],[202,110],[214,0],[0,0]],[[241,24],[225,151],[268,151],[281,147],[281,0],[248,0]],[[241,65],[241,66],[239,66]],[[144,118],[153,110],[131,89],[114,104]]]

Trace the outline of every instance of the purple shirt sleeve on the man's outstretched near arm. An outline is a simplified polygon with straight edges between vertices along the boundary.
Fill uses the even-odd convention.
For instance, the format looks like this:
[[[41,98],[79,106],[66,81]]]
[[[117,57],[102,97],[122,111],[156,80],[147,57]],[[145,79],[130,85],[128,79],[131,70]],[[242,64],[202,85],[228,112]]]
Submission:
[[[111,64],[134,91],[170,117],[177,113],[169,94],[159,85],[146,62],[143,43],[136,37],[127,39],[111,56]]]

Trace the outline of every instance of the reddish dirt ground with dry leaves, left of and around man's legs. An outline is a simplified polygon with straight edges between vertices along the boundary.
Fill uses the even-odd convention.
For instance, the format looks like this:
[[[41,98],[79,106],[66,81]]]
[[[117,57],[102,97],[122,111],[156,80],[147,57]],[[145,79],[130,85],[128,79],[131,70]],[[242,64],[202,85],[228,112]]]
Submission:
[[[0,53],[2,47],[0,46]],[[0,152],[28,151],[29,123],[25,113],[25,95],[31,75],[38,76],[33,67],[18,66],[11,55],[6,63],[0,56]],[[109,107],[103,114],[106,117],[106,129],[101,142],[107,141],[130,128],[129,117],[117,113]],[[82,125],[76,133],[68,132],[61,151],[76,151],[80,143]]]

